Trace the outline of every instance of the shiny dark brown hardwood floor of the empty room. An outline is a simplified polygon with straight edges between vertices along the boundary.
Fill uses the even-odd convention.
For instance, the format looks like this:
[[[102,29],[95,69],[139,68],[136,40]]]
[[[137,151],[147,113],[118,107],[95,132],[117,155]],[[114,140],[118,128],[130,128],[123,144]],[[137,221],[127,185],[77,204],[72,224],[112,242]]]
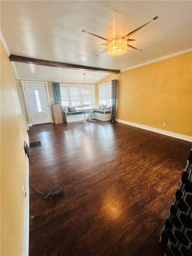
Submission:
[[[30,127],[29,141],[39,140],[30,182],[65,192],[53,209],[53,196],[30,187],[30,256],[164,256],[159,239],[190,142],[98,120]]]

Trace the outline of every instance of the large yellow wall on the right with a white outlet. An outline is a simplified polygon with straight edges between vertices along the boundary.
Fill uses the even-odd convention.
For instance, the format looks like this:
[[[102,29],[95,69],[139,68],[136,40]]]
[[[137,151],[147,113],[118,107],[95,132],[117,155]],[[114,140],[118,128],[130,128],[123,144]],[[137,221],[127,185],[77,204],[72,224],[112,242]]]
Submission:
[[[118,80],[117,119],[192,136],[191,52],[111,74],[98,84],[112,79]]]

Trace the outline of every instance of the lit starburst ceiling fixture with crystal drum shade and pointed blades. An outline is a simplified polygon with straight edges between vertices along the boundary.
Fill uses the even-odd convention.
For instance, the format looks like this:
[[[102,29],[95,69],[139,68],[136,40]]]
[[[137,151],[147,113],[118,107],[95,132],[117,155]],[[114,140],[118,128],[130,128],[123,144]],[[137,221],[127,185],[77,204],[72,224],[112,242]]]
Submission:
[[[156,20],[158,18],[159,17],[156,16],[152,20]],[[139,28],[129,32],[128,34],[126,34],[124,36],[116,36],[114,38],[106,38],[106,37],[103,37],[103,36],[100,36],[100,35],[96,35],[96,34],[87,32],[84,29],[82,29],[81,31],[82,32],[87,32],[87,33],[89,33],[89,34],[91,34],[93,36],[99,37],[99,38],[101,38],[101,39],[106,41],[105,43],[103,43],[101,45],[107,45],[107,47],[102,52],[100,52],[99,54],[101,54],[101,53],[103,53],[103,52],[108,50],[108,54],[109,55],[119,56],[119,55],[122,55],[122,54],[127,52],[127,47],[132,48],[132,49],[136,49],[136,50],[139,50],[139,51],[142,51],[142,50],[137,49],[137,48],[133,47],[132,45],[128,44],[128,42],[135,41],[135,39],[130,39],[130,37],[132,35],[134,35],[137,31],[139,31],[141,28],[146,26],[148,23],[150,23],[151,21],[147,22],[146,24],[144,24],[141,27],[139,27]],[[99,54],[97,54],[96,56],[98,56]]]

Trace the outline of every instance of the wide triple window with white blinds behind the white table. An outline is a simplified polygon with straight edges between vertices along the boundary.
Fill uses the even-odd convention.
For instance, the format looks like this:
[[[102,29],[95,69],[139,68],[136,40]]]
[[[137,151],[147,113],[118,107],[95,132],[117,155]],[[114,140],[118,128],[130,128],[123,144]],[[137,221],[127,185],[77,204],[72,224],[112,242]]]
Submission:
[[[94,86],[60,84],[62,106],[94,104]]]

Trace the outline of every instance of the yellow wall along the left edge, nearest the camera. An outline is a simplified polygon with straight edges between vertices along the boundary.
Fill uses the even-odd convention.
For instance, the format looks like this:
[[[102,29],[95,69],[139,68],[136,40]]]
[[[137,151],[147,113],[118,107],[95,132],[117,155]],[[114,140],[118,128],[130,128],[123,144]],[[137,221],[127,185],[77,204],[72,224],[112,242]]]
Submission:
[[[13,68],[1,50],[1,255],[21,254],[27,138]]]

